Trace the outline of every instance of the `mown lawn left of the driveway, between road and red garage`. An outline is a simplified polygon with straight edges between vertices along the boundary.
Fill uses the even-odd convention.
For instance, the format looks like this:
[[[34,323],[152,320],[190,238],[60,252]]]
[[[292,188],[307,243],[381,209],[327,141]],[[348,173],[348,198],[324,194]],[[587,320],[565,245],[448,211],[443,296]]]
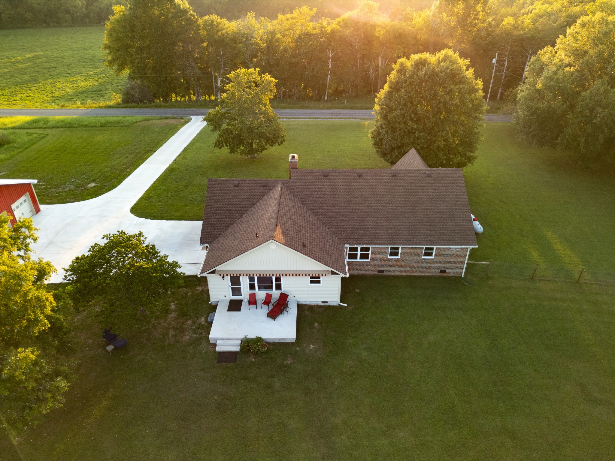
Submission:
[[[186,123],[161,117],[3,117],[0,178],[38,179],[41,203],[111,191]]]

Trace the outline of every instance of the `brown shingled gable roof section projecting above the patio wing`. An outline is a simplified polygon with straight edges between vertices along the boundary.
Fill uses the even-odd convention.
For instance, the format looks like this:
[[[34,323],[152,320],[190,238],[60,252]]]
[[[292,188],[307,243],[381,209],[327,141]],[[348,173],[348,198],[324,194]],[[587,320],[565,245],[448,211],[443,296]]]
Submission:
[[[346,274],[343,243],[279,181],[212,242],[200,274],[269,240]]]

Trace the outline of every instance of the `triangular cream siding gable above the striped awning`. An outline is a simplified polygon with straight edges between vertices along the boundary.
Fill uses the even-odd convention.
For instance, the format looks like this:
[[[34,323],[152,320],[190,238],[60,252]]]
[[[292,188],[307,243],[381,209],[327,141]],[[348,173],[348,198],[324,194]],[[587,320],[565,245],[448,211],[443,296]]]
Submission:
[[[327,270],[319,262],[306,258],[303,254],[296,253],[285,246],[276,243],[276,248],[271,248],[271,242],[258,246],[252,251],[226,262],[216,269],[238,270]]]

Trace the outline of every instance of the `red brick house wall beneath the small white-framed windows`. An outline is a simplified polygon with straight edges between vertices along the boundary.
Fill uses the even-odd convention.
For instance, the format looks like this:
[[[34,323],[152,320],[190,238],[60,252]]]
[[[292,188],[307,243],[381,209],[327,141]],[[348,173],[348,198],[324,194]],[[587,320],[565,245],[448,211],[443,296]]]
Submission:
[[[350,275],[424,275],[461,277],[467,248],[435,248],[434,259],[423,259],[423,248],[403,247],[399,259],[389,259],[388,246],[372,246],[371,261],[348,261]],[[384,270],[379,274],[378,270]],[[446,270],[440,274],[440,270]]]

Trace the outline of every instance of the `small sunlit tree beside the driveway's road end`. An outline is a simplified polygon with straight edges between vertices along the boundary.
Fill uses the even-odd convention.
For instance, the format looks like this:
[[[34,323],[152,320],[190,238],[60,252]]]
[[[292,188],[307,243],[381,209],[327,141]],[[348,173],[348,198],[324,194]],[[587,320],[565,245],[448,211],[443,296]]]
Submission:
[[[204,117],[212,131],[218,132],[213,146],[255,157],[271,146],[282,145],[286,128],[269,104],[276,94],[276,79],[261,75],[259,69],[237,69],[229,79],[220,106]]]

